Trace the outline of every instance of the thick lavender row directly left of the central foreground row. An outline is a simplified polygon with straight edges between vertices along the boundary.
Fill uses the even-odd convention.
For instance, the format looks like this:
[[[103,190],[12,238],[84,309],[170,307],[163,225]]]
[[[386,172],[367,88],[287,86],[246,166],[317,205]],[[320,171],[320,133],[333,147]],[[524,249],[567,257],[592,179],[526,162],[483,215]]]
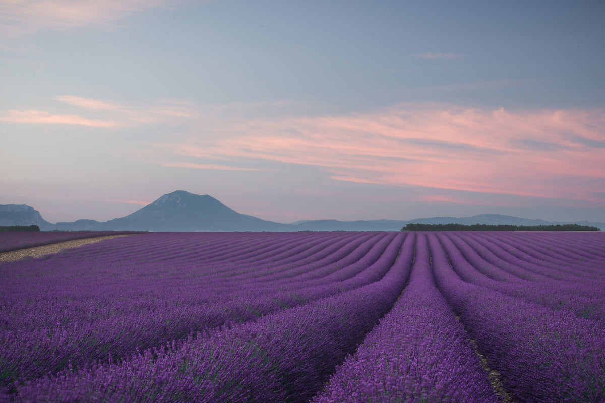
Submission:
[[[400,253],[377,282],[253,323],[27,382],[15,401],[306,402],[391,309],[412,260]]]

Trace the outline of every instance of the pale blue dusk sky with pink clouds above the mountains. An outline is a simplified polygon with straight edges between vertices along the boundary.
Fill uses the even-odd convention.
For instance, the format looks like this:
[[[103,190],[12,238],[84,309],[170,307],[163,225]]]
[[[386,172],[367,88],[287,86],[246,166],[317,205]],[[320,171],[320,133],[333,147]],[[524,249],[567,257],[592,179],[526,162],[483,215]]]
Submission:
[[[0,0],[0,204],[605,222],[605,2]]]

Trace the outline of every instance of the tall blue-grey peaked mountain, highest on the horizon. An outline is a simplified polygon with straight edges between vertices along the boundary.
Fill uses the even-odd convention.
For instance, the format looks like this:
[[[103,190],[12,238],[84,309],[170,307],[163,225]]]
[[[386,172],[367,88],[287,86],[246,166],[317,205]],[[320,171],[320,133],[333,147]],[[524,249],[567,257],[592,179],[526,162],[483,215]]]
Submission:
[[[287,231],[289,225],[238,213],[208,195],[183,190],[163,195],[140,210],[103,223],[106,230]]]

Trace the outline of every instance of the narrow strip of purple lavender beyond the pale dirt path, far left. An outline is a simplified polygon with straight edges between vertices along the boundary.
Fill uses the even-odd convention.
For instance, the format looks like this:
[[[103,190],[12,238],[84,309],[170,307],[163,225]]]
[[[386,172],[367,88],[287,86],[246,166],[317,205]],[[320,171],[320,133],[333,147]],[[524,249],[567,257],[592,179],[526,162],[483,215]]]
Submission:
[[[43,247],[51,243],[108,235],[140,234],[137,231],[51,231],[51,232],[0,232],[0,253],[25,248]]]

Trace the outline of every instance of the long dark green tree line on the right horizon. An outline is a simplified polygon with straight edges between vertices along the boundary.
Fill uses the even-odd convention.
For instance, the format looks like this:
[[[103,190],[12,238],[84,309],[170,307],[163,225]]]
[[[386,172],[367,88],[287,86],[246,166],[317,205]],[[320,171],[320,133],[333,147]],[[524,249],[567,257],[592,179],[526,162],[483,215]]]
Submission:
[[[509,224],[407,224],[402,231],[601,231],[579,224],[509,225]]]

